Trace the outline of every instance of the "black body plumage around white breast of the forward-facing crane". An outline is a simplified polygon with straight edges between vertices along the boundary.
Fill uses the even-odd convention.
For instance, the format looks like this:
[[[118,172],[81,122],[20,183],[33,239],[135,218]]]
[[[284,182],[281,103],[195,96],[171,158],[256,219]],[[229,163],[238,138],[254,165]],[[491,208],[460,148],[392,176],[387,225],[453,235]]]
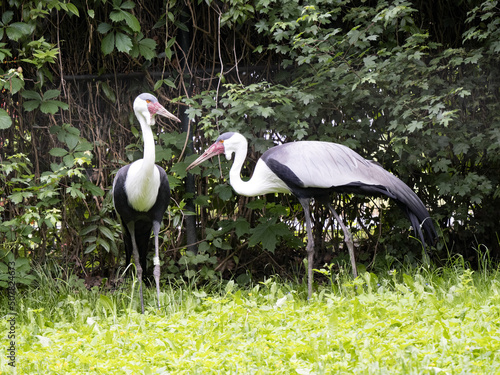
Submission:
[[[116,174],[113,201],[123,227],[125,262],[127,265],[130,264],[133,253],[132,237],[128,229],[131,223],[133,223],[140,264],[143,272],[146,273],[146,259],[151,248],[151,231],[153,231],[154,227],[158,227],[159,229],[161,225],[163,215],[170,201],[170,186],[168,184],[167,173],[162,167],[156,165],[156,168],[160,172],[160,188],[158,189],[156,203],[146,212],[137,211],[129,204],[127,192],[125,190],[125,180],[127,179],[129,168],[130,164],[120,168]]]

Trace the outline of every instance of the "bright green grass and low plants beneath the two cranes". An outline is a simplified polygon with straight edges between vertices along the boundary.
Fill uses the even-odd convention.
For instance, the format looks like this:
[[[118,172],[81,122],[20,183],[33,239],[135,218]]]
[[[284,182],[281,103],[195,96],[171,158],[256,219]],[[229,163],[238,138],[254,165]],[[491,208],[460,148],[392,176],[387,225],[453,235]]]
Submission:
[[[330,275],[309,301],[304,285],[275,279],[164,285],[160,311],[147,290],[145,315],[130,286],[101,295],[43,275],[18,295],[18,374],[500,373],[492,271]]]

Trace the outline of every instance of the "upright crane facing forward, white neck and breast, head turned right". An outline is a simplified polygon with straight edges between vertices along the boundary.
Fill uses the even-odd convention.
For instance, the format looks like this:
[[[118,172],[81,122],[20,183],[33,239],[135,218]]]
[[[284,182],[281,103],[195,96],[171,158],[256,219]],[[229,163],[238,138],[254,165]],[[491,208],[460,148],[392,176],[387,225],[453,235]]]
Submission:
[[[180,122],[167,111],[153,95],[143,93],[134,100],[134,113],[139,120],[144,140],[144,156],[118,170],[113,181],[113,204],[123,227],[126,264],[134,255],[141,311],[144,314],[142,296],[142,274],[146,272],[146,258],[149,250],[151,230],[154,234],[155,256],[154,278],[158,308],[160,307],[160,257],[158,234],[169,201],[170,187],[167,173],[155,164],[155,141],[151,127],[155,116],[160,115]]]

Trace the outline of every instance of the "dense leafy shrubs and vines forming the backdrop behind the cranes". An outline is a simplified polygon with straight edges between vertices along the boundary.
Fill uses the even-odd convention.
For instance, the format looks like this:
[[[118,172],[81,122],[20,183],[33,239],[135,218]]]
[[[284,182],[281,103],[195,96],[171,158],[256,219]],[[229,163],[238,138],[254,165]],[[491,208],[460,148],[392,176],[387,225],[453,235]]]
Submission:
[[[238,197],[216,164],[186,175],[189,132],[200,151],[228,129],[254,140],[248,172],[275,142],[352,147],[425,202],[440,231],[435,262],[499,256],[497,1],[9,0],[0,13],[0,267],[16,257],[19,283],[47,260],[89,286],[115,275],[123,258],[109,189],[141,155],[131,102],[142,91],[184,119],[157,133],[173,194],[166,277],[220,271],[244,283],[302,267],[298,202]],[[228,166],[221,160],[223,176]],[[421,260],[397,207],[336,203],[365,266]],[[328,229],[315,230],[316,266],[345,259],[335,224],[321,207],[314,214]]]

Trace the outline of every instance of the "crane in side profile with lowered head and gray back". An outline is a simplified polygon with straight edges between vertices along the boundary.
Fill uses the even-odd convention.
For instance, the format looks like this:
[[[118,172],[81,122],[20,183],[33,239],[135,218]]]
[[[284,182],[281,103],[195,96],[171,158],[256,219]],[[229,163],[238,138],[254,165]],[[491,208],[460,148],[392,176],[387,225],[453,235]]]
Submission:
[[[349,229],[344,225],[330,203],[332,193],[385,195],[394,199],[404,210],[425,247],[424,229],[433,244],[437,232],[422,201],[403,181],[374,161],[366,160],[350,148],[330,142],[300,141],[270,148],[257,161],[252,177],[241,179],[241,168],[248,151],[246,138],[234,132],[224,133],[187,170],[215,155],[224,153],[234,162],[229,171],[229,182],[236,193],[253,197],[268,193],[295,195],[304,209],[307,231],[308,295],[312,295],[312,265],[314,239],[310,214],[310,200],[325,204],[344,232],[354,277],[357,277],[354,244]]]

